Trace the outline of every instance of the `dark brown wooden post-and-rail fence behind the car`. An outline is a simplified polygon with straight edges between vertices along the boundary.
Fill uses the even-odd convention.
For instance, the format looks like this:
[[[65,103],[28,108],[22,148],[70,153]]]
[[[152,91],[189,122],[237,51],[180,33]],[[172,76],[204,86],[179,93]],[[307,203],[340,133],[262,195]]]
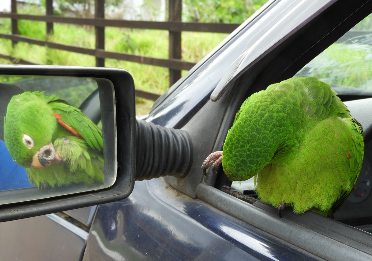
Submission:
[[[95,0],[94,18],[73,18],[53,15],[53,0],[46,0],[45,16],[36,16],[17,13],[17,0],[11,0],[11,13],[0,13],[0,17],[12,20],[12,34],[0,33],[0,38],[12,40],[13,46],[17,42],[27,42],[31,44],[48,46],[49,48],[87,54],[96,57],[96,66],[104,67],[105,58],[138,62],[154,66],[169,68],[169,86],[173,85],[181,77],[181,70],[190,70],[195,63],[182,61],[181,57],[181,32],[216,32],[231,33],[239,24],[216,24],[216,23],[184,23],[182,22],[182,0],[169,0],[167,22],[149,22],[132,20],[113,20],[105,19],[105,0]],[[65,45],[43,41],[19,35],[17,20],[35,20],[46,22],[47,34],[53,33],[53,23],[67,23],[74,25],[94,26],[96,32],[95,49],[82,48],[78,46]],[[157,29],[169,31],[169,59],[147,57],[141,55],[127,54],[123,52],[105,51],[105,27],[137,28],[137,29]],[[45,37],[47,39],[47,37]],[[9,59],[17,64],[33,64],[32,62],[0,54],[1,58]],[[136,95],[145,99],[156,100],[159,95],[136,90]]]

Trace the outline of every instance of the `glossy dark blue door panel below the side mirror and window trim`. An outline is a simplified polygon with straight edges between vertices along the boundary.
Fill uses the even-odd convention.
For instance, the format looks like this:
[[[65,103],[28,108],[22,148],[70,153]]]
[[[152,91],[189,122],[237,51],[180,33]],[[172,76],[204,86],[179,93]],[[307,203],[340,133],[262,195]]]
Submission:
[[[158,178],[98,206],[83,260],[318,260]]]

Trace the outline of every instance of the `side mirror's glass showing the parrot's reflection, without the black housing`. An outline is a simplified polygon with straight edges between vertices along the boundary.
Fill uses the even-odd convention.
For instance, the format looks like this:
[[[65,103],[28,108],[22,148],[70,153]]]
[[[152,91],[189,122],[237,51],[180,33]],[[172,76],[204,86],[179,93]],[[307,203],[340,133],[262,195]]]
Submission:
[[[0,75],[0,204],[110,187],[115,130],[109,80]]]

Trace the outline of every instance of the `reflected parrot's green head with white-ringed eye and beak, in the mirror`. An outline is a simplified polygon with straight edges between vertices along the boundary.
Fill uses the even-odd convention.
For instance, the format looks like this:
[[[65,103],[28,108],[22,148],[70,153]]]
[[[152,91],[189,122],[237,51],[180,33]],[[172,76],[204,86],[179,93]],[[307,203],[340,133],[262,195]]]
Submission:
[[[52,145],[57,128],[50,99],[39,92],[12,97],[4,120],[4,140],[13,160],[22,167],[42,168],[57,161]]]

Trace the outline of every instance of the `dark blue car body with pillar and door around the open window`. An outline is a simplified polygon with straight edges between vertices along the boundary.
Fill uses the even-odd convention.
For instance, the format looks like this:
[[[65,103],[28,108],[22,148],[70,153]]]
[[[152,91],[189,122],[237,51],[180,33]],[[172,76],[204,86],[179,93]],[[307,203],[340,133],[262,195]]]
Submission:
[[[187,175],[136,181],[118,202],[0,223],[0,260],[372,259],[368,232],[314,213],[285,210],[280,219],[271,206],[222,192],[229,185],[222,170],[208,177],[201,170],[247,96],[294,76],[372,12],[370,1],[349,2],[269,1],[145,118],[188,133],[194,157]],[[362,121],[367,131],[371,123]]]

